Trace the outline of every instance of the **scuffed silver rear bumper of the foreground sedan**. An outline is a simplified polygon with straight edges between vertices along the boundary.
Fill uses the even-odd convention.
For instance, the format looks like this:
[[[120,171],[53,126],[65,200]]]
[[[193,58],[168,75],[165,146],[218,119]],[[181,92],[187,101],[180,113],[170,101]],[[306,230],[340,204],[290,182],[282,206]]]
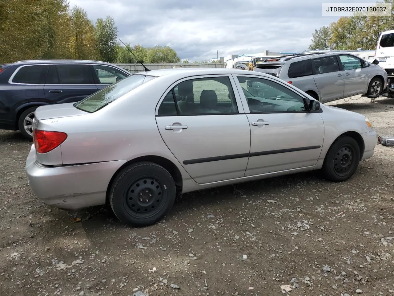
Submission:
[[[37,162],[32,145],[26,159],[29,185],[50,206],[78,210],[105,204],[108,184],[126,161],[107,161],[67,167],[48,167]]]

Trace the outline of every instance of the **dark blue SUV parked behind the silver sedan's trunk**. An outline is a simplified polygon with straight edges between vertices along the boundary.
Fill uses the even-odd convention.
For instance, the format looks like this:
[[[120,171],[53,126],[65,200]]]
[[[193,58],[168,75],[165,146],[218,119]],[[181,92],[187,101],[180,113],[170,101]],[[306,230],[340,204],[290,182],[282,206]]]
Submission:
[[[30,60],[0,65],[0,129],[19,129],[32,139],[37,107],[80,101],[130,75],[98,61]]]

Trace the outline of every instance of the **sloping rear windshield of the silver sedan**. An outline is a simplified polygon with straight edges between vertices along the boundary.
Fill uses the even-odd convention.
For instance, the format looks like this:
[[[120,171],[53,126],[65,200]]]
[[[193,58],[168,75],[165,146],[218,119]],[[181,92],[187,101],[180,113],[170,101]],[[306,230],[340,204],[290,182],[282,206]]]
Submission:
[[[89,113],[96,112],[124,94],[134,90],[134,88],[154,78],[156,77],[138,74],[131,75],[75,103],[74,107]]]

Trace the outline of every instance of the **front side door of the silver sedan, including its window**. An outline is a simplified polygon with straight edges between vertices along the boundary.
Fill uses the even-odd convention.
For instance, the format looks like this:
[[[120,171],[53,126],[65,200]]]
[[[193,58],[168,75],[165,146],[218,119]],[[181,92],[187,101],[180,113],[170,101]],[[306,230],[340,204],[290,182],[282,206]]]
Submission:
[[[252,75],[234,76],[239,82],[238,90],[251,129],[245,176],[312,169],[323,145],[324,125],[320,114],[307,112],[303,97],[284,82]],[[258,97],[249,94],[246,89],[250,82],[259,82],[266,91]]]

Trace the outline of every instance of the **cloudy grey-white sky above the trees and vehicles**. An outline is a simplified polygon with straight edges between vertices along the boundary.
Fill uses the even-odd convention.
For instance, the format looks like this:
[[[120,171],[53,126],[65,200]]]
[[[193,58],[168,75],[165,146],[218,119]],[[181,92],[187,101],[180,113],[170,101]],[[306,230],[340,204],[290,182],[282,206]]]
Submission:
[[[92,21],[112,15],[119,37],[143,46],[168,45],[181,59],[228,54],[299,52],[315,28],[339,17],[322,16],[324,0],[69,0]],[[346,0],[346,2],[375,2]]]

